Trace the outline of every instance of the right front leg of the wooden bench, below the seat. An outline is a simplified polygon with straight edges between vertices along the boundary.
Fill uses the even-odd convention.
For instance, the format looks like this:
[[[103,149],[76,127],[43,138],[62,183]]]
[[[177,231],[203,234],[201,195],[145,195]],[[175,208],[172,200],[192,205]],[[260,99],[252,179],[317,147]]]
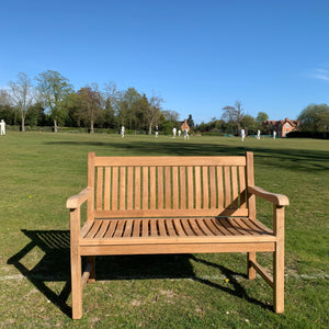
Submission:
[[[275,313],[284,313],[284,246],[276,243],[273,253],[273,306]]]

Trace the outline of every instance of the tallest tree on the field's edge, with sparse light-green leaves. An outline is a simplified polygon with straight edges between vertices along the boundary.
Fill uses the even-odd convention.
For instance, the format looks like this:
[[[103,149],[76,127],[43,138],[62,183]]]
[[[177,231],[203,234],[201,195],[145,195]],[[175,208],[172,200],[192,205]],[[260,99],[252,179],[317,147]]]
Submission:
[[[38,82],[36,89],[50,112],[56,133],[58,123],[65,117],[64,100],[72,91],[72,86],[67,78],[52,70],[39,73],[35,79]]]

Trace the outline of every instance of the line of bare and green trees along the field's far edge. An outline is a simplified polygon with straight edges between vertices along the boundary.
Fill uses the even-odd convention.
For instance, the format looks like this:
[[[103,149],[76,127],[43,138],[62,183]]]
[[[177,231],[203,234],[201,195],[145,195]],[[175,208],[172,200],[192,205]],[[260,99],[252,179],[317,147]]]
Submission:
[[[91,83],[75,91],[70,81],[57,71],[47,70],[33,80],[20,72],[15,81],[9,81],[7,89],[0,89],[0,118],[9,125],[21,125],[21,131],[29,126],[84,127],[90,133],[94,128],[118,132],[121,126],[127,131],[152,133],[155,126],[166,134],[181,125],[180,114],[163,109],[163,99],[152,92],[151,95],[139,93],[135,88],[118,90],[110,81],[100,87]],[[287,115],[288,116],[288,115]],[[222,109],[219,118],[213,117],[207,123],[194,124],[192,114],[188,124],[192,132],[203,134],[237,135],[241,128],[249,134],[270,134],[270,127],[263,123],[269,120],[265,112],[256,117],[243,112],[242,103]],[[310,104],[298,118],[303,132],[327,132],[329,127],[329,106]]]

